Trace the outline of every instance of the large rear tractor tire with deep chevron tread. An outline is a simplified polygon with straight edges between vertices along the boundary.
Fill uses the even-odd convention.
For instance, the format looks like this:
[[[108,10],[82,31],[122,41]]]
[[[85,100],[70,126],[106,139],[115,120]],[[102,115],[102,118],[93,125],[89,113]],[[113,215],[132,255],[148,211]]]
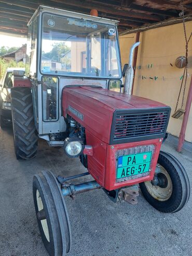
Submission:
[[[11,113],[16,157],[29,160],[36,156],[38,140],[31,88],[11,88]]]

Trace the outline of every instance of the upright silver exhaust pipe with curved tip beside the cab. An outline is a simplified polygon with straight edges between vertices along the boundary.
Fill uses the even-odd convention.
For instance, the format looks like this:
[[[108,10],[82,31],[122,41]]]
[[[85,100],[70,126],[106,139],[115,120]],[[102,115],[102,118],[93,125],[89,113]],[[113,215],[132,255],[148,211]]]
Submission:
[[[140,42],[136,42],[131,46],[130,53],[129,53],[129,64],[126,69],[125,73],[125,83],[124,83],[124,93],[131,95],[132,86],[133,86],[133,51],[136,47],[138,47]]]

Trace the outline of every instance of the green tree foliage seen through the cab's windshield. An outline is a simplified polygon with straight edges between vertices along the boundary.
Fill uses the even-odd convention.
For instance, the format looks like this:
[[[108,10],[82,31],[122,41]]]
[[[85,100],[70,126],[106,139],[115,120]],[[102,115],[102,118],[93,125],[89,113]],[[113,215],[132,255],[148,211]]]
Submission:
[[[52,50],[49,52],[43,52],[43,56],[54,61],[60,61],[62,56],[70,50],[70,47],[66,46],[64,42],[54,43]]]

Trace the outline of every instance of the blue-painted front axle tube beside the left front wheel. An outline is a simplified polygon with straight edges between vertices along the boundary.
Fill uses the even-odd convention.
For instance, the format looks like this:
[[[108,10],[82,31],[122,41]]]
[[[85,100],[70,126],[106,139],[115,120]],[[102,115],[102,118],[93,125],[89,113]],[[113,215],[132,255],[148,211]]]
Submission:
[[[62,194],[63,196],[71,196],[78,193],[96,190],[97,188],[101,188],[101,185],[97,183],[97,181],[88,181],[85,183],[80,183],[77,185],[65,185],[62,187]]]

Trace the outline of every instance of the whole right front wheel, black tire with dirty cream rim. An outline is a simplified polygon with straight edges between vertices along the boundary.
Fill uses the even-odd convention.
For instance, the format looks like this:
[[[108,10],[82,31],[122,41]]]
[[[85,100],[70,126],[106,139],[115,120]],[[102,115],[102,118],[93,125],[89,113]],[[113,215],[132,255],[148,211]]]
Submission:
[[[190,195],[190,184],[182,164],[171,154],[160,152],[155,181],[140,183],[143,196],[161,212],[180,211]]]

